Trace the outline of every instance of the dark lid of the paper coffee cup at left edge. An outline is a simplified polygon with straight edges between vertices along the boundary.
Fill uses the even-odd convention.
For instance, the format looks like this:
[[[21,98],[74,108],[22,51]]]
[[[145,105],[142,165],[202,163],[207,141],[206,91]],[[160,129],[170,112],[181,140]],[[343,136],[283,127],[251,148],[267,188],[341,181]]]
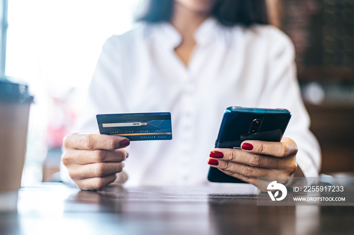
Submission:
[[[29,95],[28,86],[10,80],[0,80],[0,101],[16,103],[32,103],[33,97]]]

